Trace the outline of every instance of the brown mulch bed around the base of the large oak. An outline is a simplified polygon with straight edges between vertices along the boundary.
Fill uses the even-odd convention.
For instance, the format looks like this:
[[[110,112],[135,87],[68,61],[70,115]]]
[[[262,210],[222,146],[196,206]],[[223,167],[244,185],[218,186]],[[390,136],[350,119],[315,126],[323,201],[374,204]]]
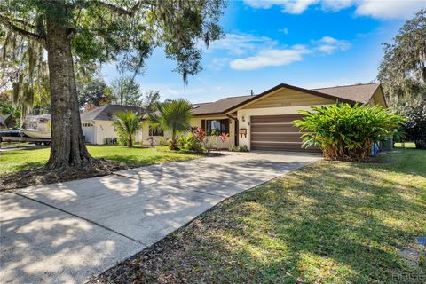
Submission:
[[[126,170],[129,166],[123,162],[100,159],[83,167],[70,167],[67,170],[46,170],[38,167],[20,170],[0,176],[0,191],[27,187],[31,185],[54,184],[88,177],[106,176],[117,170]]]

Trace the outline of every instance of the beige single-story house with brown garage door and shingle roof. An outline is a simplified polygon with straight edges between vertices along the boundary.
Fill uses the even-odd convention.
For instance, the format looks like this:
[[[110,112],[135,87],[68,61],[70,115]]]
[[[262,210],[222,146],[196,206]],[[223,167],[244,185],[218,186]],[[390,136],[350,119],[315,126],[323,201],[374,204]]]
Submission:
[[[310,110],[312,106],[326,106],[337,101],[387,107],[378,83],[313,90],[281,83],[258,95],[194,104],[191,125],[208,132],[217,130],[219,133],[229,133],[225,143],[216,137],[219,148],[245,145],[250,150],[306,151],[301,148],[302,133],[291,122],[301,117],[299,110]],[[147,139],[151,137],[154,138],[154,145],[158,144],[163,133],[160,134],[153,133],[144,122],[144,144],[149,144]],[[165,138],[168,137],[165,133]]]

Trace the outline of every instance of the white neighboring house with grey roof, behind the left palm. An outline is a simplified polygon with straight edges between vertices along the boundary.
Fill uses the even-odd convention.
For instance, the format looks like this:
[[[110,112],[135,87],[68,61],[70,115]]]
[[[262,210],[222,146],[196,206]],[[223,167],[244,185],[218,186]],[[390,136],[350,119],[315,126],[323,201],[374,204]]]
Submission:
[[[144,110],[137,106],[106,105],[80,114],[86,143],[103,145],[106,144],[108,138],[117,138],[113,116],[116,113],[129,110],[140,114],[144,113]],[[138,132],[135,140],[136,142],[142,141],[142,131]]]

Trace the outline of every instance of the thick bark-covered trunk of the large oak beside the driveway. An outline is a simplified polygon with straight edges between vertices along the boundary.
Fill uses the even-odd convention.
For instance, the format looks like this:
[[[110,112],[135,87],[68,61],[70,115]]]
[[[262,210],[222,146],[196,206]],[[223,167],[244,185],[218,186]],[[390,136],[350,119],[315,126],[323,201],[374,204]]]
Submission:
[[[47,17],[46,49],[51,87],[51,156],[46,168],[60,170],[94,161],[83,140],[71,35],[60,19]],[[56,17],[58,18],[58,16]]]

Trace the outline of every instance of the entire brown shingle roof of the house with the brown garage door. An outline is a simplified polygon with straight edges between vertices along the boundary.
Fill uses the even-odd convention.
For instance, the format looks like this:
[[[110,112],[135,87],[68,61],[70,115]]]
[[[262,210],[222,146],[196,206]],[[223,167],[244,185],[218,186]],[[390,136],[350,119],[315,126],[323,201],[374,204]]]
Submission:
[[[305,91],[313,95],[325,97],[328,99],[340,99],[342,101],[355,103],[367,103],[371,97],[373,97],[377,88],[380,87],[379,83],[365,83],[348,86],[337,86],[330,88],[320,89],[304,89],[296,86],[281,83],[268,91],[264,91],[261,94],[255,96],[240,96],[240,97],[229,97],[225,99],[219,99],[210,103],[194,104],[193,114],[194,115],[207,115],[207,114],[225,114],[233,110],[238,106],[243,106],[248,101],[255,100],[264,95],[269,94],[271,91],[276,91],[280,88],[289,88],[296,91]]]

